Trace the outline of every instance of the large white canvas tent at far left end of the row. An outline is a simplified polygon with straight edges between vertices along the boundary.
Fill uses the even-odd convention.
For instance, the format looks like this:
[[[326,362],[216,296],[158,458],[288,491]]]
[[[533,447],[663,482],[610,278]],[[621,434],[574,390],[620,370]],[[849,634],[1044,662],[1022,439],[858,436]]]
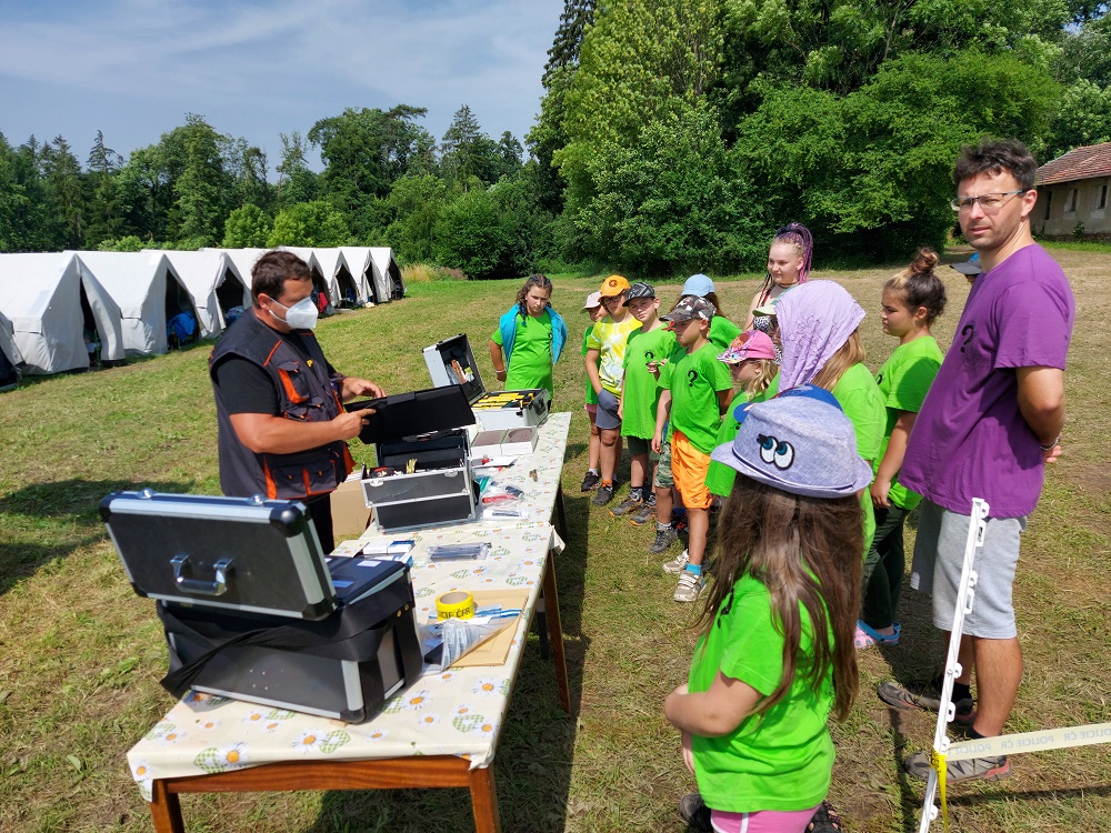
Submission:
[[[101,361],[123,361],[120,308],[72,252],[0,254],[0,287],[29,373],[88,368],[87,335],[99,340]]]

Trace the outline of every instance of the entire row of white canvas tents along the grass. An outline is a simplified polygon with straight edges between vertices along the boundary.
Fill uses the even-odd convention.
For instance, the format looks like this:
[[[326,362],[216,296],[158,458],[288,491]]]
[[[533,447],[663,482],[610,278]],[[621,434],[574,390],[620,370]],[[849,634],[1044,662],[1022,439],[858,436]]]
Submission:
[[[386,247],[283,247],[304,260],[333,308],[404,295]],[[0,353],[24,373],[61,373],[158,355],[168,324],[190,313],[201,339],[218,337],[226,313],[251,305],[251,268],[266,249],[0,254]]]

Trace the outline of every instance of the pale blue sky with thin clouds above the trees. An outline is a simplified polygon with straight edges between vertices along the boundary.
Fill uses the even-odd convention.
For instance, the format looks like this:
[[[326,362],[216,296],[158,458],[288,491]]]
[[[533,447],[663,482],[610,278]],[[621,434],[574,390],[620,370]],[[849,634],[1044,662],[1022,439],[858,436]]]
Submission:
[[[97,130],[127,155],[199,113],[279,162],[349,107],[428,109],[439,140],[463,103],[493,139],[524,134],[562,0],[0,0],[0,132]],[[318,167],[316,151],[311,151]]]

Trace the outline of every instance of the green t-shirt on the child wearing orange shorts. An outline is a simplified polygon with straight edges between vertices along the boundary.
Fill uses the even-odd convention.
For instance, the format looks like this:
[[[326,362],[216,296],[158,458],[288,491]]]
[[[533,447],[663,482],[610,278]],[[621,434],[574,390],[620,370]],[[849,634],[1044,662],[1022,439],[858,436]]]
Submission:
[[[718,345],[709,342],[677,363],[668,363],[671,429],[682,431],[691,445],[709,454],[721,426],[718,392],[733,387],[729,368],[718,361]],[[661,375],[662,379],[662,375]],[[871,377],[869,377],[871,379]]]

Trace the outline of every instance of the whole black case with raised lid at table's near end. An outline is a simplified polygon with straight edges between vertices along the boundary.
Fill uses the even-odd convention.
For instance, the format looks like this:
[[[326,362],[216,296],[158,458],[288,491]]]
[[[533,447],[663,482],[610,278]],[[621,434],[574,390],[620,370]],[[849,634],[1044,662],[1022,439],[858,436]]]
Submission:
[[[144,491],[100,512],[136,592],[159,600],[176,696],[359,722],[420,674],[408,568],[369,564],[363,594],[341,603],[302,504]]]

